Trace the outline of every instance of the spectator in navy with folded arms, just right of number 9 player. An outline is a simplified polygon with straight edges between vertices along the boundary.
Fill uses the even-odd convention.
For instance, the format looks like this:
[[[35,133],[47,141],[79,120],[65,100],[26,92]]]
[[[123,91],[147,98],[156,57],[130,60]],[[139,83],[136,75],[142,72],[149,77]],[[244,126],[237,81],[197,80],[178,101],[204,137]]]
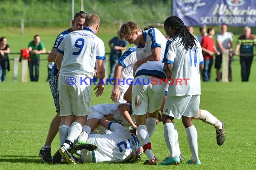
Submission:
[[[117,32],[119,34],[119,31]],[[127,41],[121,40],[118,36],[110,39],[108,42],[110,47],[110,74],[109,79],[114,78],[115,65],[118,63],[122,55],[122,51],[126,50]]]

